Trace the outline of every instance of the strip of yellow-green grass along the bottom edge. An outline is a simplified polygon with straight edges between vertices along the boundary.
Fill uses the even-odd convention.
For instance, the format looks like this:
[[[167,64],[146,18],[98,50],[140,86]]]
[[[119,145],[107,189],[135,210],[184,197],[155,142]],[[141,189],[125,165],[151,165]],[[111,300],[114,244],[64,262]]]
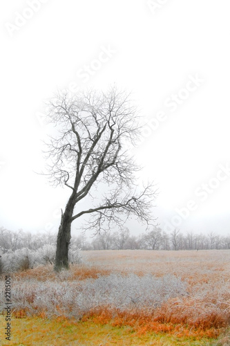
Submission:
[[[5,320],[0,316],[0,324],[4,325]],[[146,331],[140,333],[132,327],[115,327],[113,323],[102,325],[92,319],[75,322],[65,318],[45,319],[45,318],[13,318],[11,341],[5,340],[4,331],[0,329],[1,346],[128,346],[128,345],[230,345],[229,343],[216,343],[209,338],[199,338],[153,333]]]

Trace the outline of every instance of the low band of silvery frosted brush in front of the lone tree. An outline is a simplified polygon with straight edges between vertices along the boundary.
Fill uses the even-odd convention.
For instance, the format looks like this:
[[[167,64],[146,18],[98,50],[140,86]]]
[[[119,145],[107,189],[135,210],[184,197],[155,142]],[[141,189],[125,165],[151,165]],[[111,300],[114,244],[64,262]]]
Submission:
[[[15,282],[12,302],[15,309],[31,313],[47,311],[79,318],[92,309],[144,310],[151,313],[169,298],[186,294],[186,284],[173,275],[154,277],[111,274],[73,282]]]

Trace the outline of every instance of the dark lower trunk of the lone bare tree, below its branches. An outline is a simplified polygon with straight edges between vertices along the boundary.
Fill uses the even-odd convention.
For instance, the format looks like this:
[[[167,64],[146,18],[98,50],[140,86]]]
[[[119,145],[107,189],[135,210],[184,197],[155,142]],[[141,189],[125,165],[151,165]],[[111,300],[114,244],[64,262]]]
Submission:
[[[61,268],[69,268],[68,264],[68,247],[71,238],[71,224],[73,209],[75,203],[73,201],[73,196],[70,197],[64,214],[61,212],[61,224],[59,226],[57,234],[57,250],[55,257],[55,271],[60,271]]]

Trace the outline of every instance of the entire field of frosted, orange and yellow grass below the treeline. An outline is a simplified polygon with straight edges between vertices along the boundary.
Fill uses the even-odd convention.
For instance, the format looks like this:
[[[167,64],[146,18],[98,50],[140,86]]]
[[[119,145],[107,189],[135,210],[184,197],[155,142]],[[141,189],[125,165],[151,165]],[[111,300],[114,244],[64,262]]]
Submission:
[[[230,251],[82,251],[82,257],[83,264],[59,274],[52,265],[12,273],[15,338],[27,341],[2,345],[230,345]],[[3,302],[3,280],[1,294]],[[28,333],[31,319],[34,327],[46,321],[40,339],[60,323],[73,339],[21,336],[20,323],[27,321]]]

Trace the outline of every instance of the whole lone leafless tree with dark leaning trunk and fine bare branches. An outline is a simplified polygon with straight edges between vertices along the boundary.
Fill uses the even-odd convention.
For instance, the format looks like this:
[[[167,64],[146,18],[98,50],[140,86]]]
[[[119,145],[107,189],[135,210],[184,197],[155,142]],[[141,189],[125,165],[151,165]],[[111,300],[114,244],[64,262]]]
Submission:
[[[59,271],[68,268],[74,220],[90,214],[86,228],[96,233],[115,224],[122,226],[131,215],[148,224],[153,220],[155,192],[149,183],[138,188],[135,172],[140,167],[126,149],[140,134],[130,95],[115,87],[106,93],[87,91],[73,96],[64,92],[50,100],[49,109],[48,121],[56,133],[46,143],[46,175],[55,186],[66,185],[71,190],[57,235],[55,271]],[[88,197],[90,208],[79,209],[79,201],[88,201]]]

